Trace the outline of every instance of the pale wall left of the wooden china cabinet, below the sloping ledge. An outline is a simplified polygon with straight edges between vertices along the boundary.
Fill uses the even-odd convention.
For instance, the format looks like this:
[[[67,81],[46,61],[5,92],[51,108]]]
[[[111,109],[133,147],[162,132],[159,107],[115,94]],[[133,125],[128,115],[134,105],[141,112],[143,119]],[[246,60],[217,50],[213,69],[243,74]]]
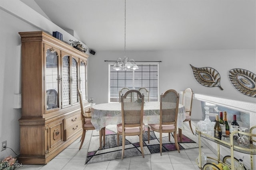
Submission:
[[[0,10],[0,142],[7,141],[7,147],[17,154],[20,150],[20,127],[18,119],[21,109],[13,109],[13,94],[21,93],[21,41],[19,31],[39,31],[6,12]],[[10,22],[11,21],[11,22]],[[12,150],[0,153],[4,156],[16,156]]]

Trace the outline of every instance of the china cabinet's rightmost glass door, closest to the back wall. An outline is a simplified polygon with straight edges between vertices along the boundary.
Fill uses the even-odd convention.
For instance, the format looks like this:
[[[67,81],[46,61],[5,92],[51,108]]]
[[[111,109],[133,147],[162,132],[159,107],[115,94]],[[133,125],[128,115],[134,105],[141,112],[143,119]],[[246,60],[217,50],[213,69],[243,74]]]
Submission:
[[[86,61],[80,61],[80,90],[83,94],[83,99],[87,101],[87,74]]]

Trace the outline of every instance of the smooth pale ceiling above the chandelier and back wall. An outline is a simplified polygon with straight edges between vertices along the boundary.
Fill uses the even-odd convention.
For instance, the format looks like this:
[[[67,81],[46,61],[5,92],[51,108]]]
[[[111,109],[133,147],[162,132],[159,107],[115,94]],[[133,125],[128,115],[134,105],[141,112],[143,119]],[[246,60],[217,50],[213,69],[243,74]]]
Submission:
[[[124,0],[22,2],[90,49],[124,50]],[[126,50],[255,49],[255,9],[255,0],[126,0]]]

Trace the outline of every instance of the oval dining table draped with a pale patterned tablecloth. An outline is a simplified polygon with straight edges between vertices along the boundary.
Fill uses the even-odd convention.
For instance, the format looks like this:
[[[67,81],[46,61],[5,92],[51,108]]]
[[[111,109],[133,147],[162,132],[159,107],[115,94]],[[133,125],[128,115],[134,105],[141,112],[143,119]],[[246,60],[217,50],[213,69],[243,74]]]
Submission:
[[[143,123],[160,123],[160,102],[145,102]],[[120,102],[96,104],[91,107],[91,122],[97,131],[107,125],[122,123],[122,111]],[[179,104],[177,127],[183,129],[183,121],[186,119],[185,106]]]

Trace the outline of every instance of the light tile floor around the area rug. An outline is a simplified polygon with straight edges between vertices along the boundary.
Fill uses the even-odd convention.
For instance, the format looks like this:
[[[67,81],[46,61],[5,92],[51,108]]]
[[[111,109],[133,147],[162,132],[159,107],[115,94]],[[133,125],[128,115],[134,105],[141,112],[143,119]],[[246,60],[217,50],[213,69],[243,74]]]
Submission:
[[[198,136],[193,135],[185,124],[182,133],[192,140],[198,142]],[[92,131],[86,133],[84,144],[81,150],[80,137],[69,145],[65,150],[58,154],[46,165],[23,165],[18,170],[198,170],[196,158],[198,157],[198,148],[176,150],[171,152],[136,156],[132,158],[124,158],[123,160],[110,160],[106,162],[99,162],[94,164],[85,164],[85,159],[90,143]],[[202,152],[207,156],[217,156],[206,145],[202,143]]]

